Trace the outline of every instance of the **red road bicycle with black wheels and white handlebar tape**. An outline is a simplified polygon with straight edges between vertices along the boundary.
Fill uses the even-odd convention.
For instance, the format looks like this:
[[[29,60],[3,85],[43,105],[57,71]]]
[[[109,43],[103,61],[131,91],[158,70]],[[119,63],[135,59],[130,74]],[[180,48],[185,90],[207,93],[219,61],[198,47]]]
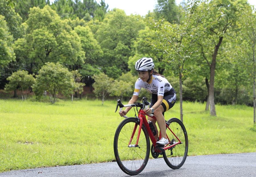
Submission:
[[[120,111],[123,107],[137,108],[138,116],[127,117],[119,124],[114,137],[114,153],[117,164],[129,175],[136,175],[142,172],[146,167],[150,154],[153,158],[164,157],[166,164],[172,169],[179,169],[185,162],[188,151],[187,131],[183,123],[177,118],[171,118],[166,121],[166,136],[169,143],[165,146],[158,146],[150,125],[146,120],[146,116],[154,118],[153,114],[147,115],[144,108],[150,105],[143,97],[143,103],[134,103],[131,105],[123,105],[117,100],[116,110],[119,106]],[[138,108],[140,110],[138,111]],[[161,132],[159,133],[159,139]]]

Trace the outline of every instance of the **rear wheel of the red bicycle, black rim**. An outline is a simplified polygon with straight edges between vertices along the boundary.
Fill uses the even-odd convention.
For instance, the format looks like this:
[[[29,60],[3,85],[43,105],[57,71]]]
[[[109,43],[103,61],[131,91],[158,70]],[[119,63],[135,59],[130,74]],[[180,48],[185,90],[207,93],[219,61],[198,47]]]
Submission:
[[[188,151],[187,131],[183,123],[177,118],[171,118],[167,122],[170,123],[169,125],[170,129],[179,138],[181,143],[163,152],[164,161],[170,168],[179,169],[184,164],[187,158],[187,151]],[[179,141],[173,135],[173,133],[168,128],[166,129],[166,135],[169,138],[169,141],[171,141],[174,144],[175,142],[179,142]]]

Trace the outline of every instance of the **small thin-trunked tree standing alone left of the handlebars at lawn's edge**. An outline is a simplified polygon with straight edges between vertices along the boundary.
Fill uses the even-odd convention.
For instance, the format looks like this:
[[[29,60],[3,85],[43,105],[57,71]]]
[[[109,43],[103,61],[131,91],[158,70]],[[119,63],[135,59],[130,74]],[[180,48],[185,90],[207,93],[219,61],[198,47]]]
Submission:
[[[94,83],[92,84],[94,88],[94,93],[96,96],[102,96],[102,105],[104,103],[104,98],[107,93],[110,93],[111,87],[113,85],[113,79],[108,77],[104,73],[92,76]]]

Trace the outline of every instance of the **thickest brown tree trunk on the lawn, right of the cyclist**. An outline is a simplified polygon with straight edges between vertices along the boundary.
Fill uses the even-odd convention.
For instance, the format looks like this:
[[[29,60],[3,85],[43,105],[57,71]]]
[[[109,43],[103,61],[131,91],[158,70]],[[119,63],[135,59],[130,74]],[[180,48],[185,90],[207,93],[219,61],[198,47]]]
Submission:
[[[210,115],[216,116],[215,111],[215,103],[214,103],[214,76],[215,76],[215,67],[216,67],[216,57],[218,54],[218,50],[220,48],[220,44],[222,42],[223,36],[220,37],[218,44],[214,48],[214,52],[212,55],[212,63],[210,66],[210,88],[209,88],[209,99],[210,99]]]

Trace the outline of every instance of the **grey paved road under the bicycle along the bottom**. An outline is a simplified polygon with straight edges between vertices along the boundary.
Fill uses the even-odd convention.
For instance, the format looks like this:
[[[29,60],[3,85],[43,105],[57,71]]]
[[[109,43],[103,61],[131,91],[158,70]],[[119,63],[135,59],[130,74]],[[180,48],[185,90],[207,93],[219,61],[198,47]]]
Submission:
[[[40,172],[40,173],[38,173]],[[42,172],[42,173],[41,173]],[[119,169],[116,162],[28,170],[13,170],[0,173],[0,177],[100,177],[129,176]],[[150,159],[140,177],[256,177],[256,153],[202,155],[187,157],[177,170],[170,169],[163,158]]]

